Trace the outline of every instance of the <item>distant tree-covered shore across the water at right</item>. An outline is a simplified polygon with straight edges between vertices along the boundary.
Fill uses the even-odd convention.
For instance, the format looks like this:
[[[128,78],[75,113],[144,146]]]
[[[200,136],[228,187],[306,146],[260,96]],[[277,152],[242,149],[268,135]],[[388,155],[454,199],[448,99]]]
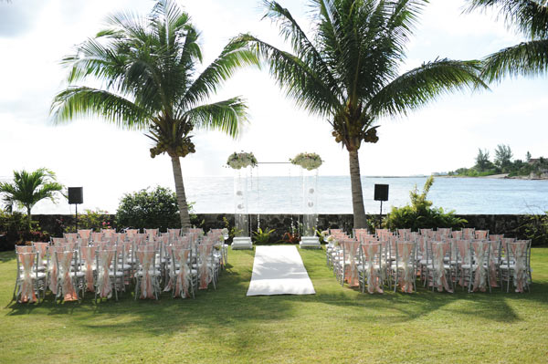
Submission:
[[[548,159],[532,158],[528,151],[525,160],[512,160],[513,154],[508,145],[499,144],[495,150],[495,159],[490,161],[489,151],[479,149],[476,164],[471,168],[459,168],[456,171],[433,173],[438,177],[489,177],[513,178],[522,180],[548,180]]]

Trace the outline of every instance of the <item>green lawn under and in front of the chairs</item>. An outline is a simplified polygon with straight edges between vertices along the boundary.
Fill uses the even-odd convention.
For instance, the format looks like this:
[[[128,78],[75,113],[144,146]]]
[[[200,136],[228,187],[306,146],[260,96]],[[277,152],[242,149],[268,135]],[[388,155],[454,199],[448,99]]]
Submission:
[[[547,362],[548,249],[533,249],[532,294],[387,293],[337,284],[323,251],[300,251],[317,294],[246,297],[253,252],[229,252],[217,290],[196,299],[9,304],[0,254],[0,363]]]

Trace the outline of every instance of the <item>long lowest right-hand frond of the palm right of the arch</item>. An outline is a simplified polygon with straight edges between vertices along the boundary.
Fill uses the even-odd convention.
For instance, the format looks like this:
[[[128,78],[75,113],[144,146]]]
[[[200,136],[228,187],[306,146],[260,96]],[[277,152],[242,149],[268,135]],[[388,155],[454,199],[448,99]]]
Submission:
[[[380,90],[367,104],[368,115],[406,115],[442,94],[488,88],[479,78],[479,61],[440,59],[411,69]]]

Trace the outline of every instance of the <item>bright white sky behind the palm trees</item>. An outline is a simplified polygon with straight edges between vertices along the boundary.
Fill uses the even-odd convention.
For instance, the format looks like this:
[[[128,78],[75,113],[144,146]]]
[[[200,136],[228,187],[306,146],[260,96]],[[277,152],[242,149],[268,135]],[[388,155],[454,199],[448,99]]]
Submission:
[[[311,25],[307,2],[280,0],[304,28]],[[250,32],[284,47],[278,29],[261,20],[257,0],[181,0],[201,31],[209,64],[232,36]],[[477,59],[522,41],[492,14],[463,14],[462,0],[431,0],[408,45],[401,71],[437,57]],[[100,118],[53,126],[49,107],[64,87],[67,69],[59,61],[74,46],[104,28],[106,16],[121,10],[146,15],[145,0],[12,0],[0,2],[0,181],[14,170],[47,167],[66,186],[84,186],[88,207],[110,206],[107,197],[154,185],[174,188],[167,156],[150,158],[151,142],[138,131],[119,130]],[[321,175],[348,175],[348,153],[334,142],[326,120],[297,109],[266,69],[246,68],[212,98],[248,100],[248,124],[238,140],[220,132],[198,132],[196,152],[182,159],[185,179],[231,176],[225,168],[234,151],[252,151],[258,161],[288,161],[317,152]],[[406,118],[380,120],[380,140],[360,150],[363,175],[416,175],[470,167],[478,148],[491,156],[498,144],[515,158],[548,156],[546,77],[505,79],[490,91],[443,96]],[[275,168],[263,174],[282,173]],[[187,192],[192,194],[192,192]],[[103,207],[104,208],[104,207]],[[67,213],[68,205],[40,203],[36,212]]]

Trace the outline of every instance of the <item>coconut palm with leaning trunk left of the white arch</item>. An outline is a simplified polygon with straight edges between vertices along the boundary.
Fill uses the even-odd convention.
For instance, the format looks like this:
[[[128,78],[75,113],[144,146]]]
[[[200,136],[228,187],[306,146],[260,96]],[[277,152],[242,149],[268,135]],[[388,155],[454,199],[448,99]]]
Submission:
[[[127,130],[146,130],[151,157],[172,160],[175,192],[183,227],[190,226],[179,158],[195,152],[193,130],[222,130],[237,137],[247,120],[244,100],[205,103],[237,68],[258,64],[241,43],[230,42],[201,74],[199,34],[188,14],[171,0],[159,0],[148,17],[119,14],[110,27],[65,57],[68,88],[52,103],[55,122],[95,114]],[[93,78],[102,88],[73,86]]]

